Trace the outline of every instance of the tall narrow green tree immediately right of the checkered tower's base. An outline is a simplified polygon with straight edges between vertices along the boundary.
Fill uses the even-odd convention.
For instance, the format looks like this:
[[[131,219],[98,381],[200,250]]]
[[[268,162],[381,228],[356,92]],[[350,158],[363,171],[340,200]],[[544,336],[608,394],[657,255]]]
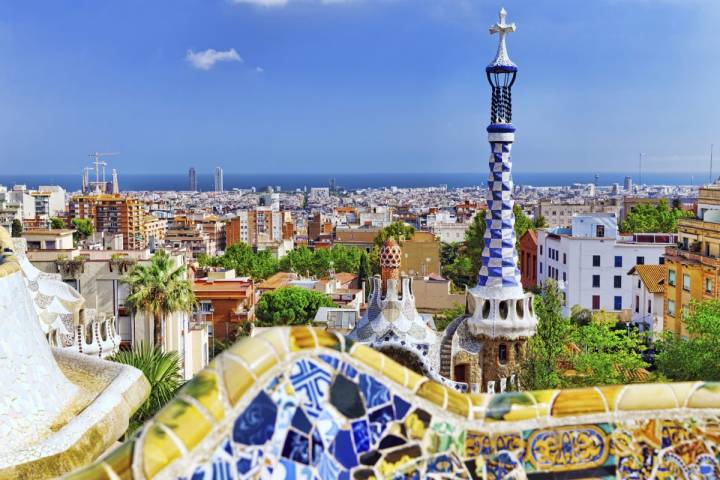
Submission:
[[[567,358],[573,328],[562,314],[562,295],[554,281],[542,284],[534,307],[537,333],[527,343],[521,384],[527,390],[558,388],[563,380],[561,361]]]

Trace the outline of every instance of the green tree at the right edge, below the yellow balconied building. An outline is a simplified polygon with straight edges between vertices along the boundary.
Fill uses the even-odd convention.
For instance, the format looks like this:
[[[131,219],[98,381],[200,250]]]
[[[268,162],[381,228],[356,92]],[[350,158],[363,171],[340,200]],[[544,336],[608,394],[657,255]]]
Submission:
[[[689,337],[667,333],[656,343],[658,371],[676,381],[720,381],[720,300],[692,303],[682,321]]]

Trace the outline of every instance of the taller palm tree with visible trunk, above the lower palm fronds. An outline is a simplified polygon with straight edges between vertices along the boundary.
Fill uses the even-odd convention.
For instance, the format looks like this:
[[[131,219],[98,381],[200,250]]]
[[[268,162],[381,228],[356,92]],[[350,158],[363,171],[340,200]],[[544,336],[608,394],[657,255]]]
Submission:
[[[185,266],[176,267],[170,255],[160,250],[149,264],[135,265],[124,282],[130,286],[127,305],[153,316],[153,339],[162,347],[165,318],[174,312],[190,312],[195,305]]]

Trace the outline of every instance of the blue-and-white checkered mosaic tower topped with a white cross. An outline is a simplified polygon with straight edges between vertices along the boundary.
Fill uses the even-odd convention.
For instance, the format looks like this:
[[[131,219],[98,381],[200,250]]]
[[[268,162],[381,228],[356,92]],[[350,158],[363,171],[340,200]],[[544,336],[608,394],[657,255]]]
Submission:
[[[505,37],[515,31],[515,24],[505,23],[506,16],[505,9],[500,10],[500,21],[490,27],[490,33],[497,33],[500,39],[495,59],[485,69],[492,87],[487,128],[491,147],[489,211],[478,283],[468,294],[468,328],[483,342],[482,385],[488,390],[499,390],[496,382],[516,375],[525,342],[537,327],[532,295],[523,291],[520,282],[515,248],[510,150],[515,140],[511,90],[518,68],[507,53]]]

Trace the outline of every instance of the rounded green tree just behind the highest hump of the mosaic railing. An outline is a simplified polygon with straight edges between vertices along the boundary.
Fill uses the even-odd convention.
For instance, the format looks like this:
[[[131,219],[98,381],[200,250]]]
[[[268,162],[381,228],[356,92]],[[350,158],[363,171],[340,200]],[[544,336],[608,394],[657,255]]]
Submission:
[[[266,292],[255,306],[255,325],[308,325],[320,307],[334,307],[327,295],[300,287],[284,287]]]

